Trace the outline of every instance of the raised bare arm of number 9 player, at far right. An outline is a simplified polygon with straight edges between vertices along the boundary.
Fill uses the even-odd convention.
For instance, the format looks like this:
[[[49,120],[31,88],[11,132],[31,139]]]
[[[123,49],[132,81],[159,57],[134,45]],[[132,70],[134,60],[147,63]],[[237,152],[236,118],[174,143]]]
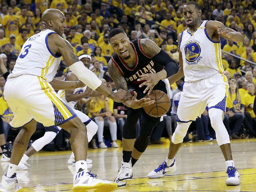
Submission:
[[[220,21],[208,21],[206,23],[206,30],[207,32],[210,31],[210,34],[213,32],[213,35],[219,35],[224,39],[230,39],[237,43],[244,41],[244,36],[240,32],[225,27]]]

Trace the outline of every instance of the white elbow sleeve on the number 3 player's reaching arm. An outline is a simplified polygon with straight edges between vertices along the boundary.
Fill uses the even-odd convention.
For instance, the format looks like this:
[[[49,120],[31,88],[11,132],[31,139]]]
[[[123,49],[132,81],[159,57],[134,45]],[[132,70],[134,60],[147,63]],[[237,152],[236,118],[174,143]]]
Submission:
[[[69,69],[80,79],[85,85],[95,90],[101,85],[100,79],[89,69],[84,67],[82,61],[77,61],[69,66]]]

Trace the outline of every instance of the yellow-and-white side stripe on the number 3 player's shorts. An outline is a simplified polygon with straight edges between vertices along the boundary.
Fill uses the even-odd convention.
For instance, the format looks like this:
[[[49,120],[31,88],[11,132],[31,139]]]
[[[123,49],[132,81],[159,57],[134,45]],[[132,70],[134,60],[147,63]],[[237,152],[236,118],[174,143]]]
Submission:
[[[44,90],[45,95],[48,96],[49,99],[52,101],[52,103],[55,104],[55,106],[58,108],[58,110],[60,111],[60,113],[64,117],[64,119],[68,119],[69,117],[72,117],[73,114],[60,101],[60,99],[58,97],[56,97],[55,94],[52,93],[52,88],[47,85],[48,83],[44,82],[44,80],[40,77],[38,77],[38,80],[39,80],[42,90]]]

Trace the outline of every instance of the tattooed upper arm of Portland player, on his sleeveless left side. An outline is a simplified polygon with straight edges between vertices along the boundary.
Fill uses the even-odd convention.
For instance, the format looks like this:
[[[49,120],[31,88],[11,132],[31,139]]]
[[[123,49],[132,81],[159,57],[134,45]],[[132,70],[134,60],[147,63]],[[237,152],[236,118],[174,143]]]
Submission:
[[[116,89],[124,89],[128,91],[127,82],[124,77],[120,74],[119,70],[116,68],[115,64],[110,60],[108,62],[108,73],[110,77],[113,79]]]

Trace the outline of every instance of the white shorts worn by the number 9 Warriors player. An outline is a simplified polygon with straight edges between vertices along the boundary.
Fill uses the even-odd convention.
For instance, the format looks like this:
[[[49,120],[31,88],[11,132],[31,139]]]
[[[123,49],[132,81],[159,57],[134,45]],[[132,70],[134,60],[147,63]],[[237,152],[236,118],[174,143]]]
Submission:
[[[206,106],[226,111],[228,79],[225,75],[216,74],[210,78],[185,82],[180,96],[176,121],[187,123],[201,117]]]

